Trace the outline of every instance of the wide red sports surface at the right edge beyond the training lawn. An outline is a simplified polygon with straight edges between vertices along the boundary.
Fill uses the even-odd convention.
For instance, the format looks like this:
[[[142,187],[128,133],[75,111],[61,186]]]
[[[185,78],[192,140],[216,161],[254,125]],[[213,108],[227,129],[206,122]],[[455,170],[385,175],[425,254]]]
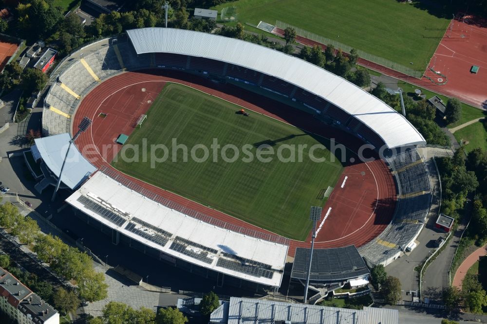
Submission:
[[[441,91],[462,101],[487,107],[487,28],[471,23],[472,17],[452,20],[429,68],[446,75],[447,83]],[[470,68],[480,67],[477,74]],[[430,69],[425,73],[431,78],[442,76]]]

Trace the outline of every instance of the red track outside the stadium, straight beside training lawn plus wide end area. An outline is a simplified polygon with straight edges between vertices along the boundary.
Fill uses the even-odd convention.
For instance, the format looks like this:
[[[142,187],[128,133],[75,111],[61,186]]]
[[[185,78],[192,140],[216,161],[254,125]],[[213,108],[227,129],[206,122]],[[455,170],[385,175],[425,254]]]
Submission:
[[[487,108],[487,92],[485,90],[487,72],[479,72],[478,75],[470,74],[469,72],[470,66],[473,64],[479,65],[485,70],[487,65],[485,59],[487,53],[487,28],[468,25],[457,20],[453,20],[450,26],[454,26],[453,31],[448,30],[442,38],[440,45],[431,58],[430,65],[424,73],[435,80],[435,82],[441,76],[432,73],[429,69],[430,67],[445,74],[448,78],[448,82],[445,85],[435,84],[426,77],[418,79],[361,57],[358,58],[357,63],[415,86],[450,97],[457,97],[469,105]],[[284,30],[274,27],[272,34],[282,37],[284,36]],[[466,37],[462,37],[464,34]],[[449,35],[451,36],[449,37]],[[326,49],[325,44],[302,36],[296,36],[296,41],[306,46],[321,46],[323,51]]]

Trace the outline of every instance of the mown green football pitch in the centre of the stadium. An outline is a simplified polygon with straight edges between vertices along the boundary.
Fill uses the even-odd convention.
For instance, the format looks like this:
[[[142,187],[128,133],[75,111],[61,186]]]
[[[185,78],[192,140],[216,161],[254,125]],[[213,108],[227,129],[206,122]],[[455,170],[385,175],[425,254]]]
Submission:
[[[338,159],[332,159],[326,148],[328,140],[256,112],[250,112],[248,117],[237,114],[241,108],[198,90],[168,83],[154,100],[142,127],[134,129],[112,165],[130,176],[266,230],[304,240],[311,229],[310,206],[324,205],[323,191],[335,185],[343,166]],[[221,145],[216,162],[211,147],[214,139]],[[167,152],[163,148],[152,151],[158,161],[167,160],[152,159],[151,167],[151,153],[144,162],[142,150],[135,153],[130,149],[132,145],[143,147],[145,141],[149,151],[151,144],[167,147]],[[184,149],[173,154],[175,145],[180,144],[187,146],[187,162]],[[205,161],[201,144],[208,148]],[[233,149],[226,150],[226,161],[222,158],[226,144],[237,147],[239,156],[235,162],[230,162],[236,156]],[[269,146],[259,150],[262,144]],[[315,144],[320,146],[313,156],[325,161],[310,159],[310,149]],[[259,160],[258,151],[268,152],[269,147],[276,154],[261,155]],[[295,154],[291,154],[293,147]],[[198,161],[192,159],[192,150]],[[279,152],[285,160],[280,161]],[[131,162],[137,158],[138,162]],[[267,158],[272,161],[265,162]]]

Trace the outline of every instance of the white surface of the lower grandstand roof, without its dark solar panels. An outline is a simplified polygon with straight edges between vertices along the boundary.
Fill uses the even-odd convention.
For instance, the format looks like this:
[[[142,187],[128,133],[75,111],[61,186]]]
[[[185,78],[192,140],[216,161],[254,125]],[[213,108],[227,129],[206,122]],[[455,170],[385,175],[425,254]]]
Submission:
[[[87,208],[85,204],[78,201],[78,198],[81,196],[98,198],[103,200],[105,206],[111,206],[111,208],[116,208],[118,211],[123,211],[125,213],[124,215],[119,214],[124,218],[123,223],[116,225],[110,220],[107,220],[106,217],[102,217],[92,209]],[[102,172],[95,173],[90,180],[86,181],[81,188],[67,198],[66,201],[108,227],[166,254],[205,268],[261,283],[263,285],[281,285],[282,272],[284,270],[288,250],[287,245],[232,232],[210,225],[191,216],[187,216],[134,192]],[[133,217],[137,217],[152,226],[172,234],[169,242],[162,246],[126,230],[125,227]],[[136,220],[133,221],[136,222]],[[144,229],[144,231],[150,233],[149,229]],[[183,237],[207,248],[215,249],[218,253],[214,255],[211,264],[208,264],[188,255],[171,250],[169,247],[176,236]],[[217,266],[217,259],[222,257],[220,255],[221,252],[230,253],[272,266],[272,269],[274,270],[272,278],[252,276],[250,274]]]

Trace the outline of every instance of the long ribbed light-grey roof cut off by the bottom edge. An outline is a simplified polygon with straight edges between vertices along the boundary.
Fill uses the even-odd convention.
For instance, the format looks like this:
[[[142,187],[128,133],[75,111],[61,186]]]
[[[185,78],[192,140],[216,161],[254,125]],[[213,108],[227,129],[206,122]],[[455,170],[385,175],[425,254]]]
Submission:
[[[398,324],[396,309],[363,307],[363,310],[289,304],[262,299],[231,297],[210,316],[210,323]],[[288,323],[288,322],[286,322]]]

